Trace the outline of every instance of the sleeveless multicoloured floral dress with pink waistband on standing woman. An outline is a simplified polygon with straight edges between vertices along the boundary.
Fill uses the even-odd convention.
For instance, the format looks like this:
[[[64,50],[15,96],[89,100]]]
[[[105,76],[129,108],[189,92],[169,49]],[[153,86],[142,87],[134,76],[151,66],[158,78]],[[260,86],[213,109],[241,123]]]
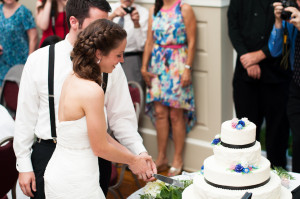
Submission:
[[[180,6],[178,0],[170,9],[161,9],[153,15],[154,47],[148,71],[157,76],[152,78],[151,88],[147,88],[146,113],[155,124],[153,102],[184,109],[189,132],[196,122],[196,114],[192,84],[186,87],[180,84],[187,60],[187,36]]]

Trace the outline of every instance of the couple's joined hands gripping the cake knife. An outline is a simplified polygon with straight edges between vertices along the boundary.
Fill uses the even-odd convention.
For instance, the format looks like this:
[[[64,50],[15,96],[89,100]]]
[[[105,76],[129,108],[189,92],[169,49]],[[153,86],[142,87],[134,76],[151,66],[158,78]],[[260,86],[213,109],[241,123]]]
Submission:
[[[134,161],[129,164],[130,170],[136,174],[141,175],[144,180],[151,178],[153,172],[152,169],[148,166],[148,161],[151,161],[152,157],[149,155],[137,155],[134,158]]]

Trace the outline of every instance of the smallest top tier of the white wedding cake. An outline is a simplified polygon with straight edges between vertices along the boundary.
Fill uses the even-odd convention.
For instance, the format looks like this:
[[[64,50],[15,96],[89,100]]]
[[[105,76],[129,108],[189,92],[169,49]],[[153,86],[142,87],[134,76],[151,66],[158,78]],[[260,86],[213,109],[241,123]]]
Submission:
[[[253,143],[256,136],[256,126],[252,122],[249,122],[241,130],[232,128],[231,121],[223,122],[221,127],[221,140],[226,144],[232,145],[246,145]]]

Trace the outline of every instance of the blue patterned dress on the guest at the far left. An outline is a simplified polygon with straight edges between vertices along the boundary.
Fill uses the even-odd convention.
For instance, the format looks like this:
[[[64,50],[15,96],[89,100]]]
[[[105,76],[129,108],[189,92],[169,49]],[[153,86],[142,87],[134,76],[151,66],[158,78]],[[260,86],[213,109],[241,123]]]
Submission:
[[[0,5],[0,86],[8,70],[17,64],[25,64],[29,53],[27,30],[35,28],[31,12],[21,5],[9,18],[5,18]]]

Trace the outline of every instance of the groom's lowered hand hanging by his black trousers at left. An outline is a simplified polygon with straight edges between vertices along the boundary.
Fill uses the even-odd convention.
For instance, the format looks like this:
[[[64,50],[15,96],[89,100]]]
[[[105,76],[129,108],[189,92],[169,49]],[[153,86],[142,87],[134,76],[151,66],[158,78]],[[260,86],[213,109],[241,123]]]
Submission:
[[[19,173],[19,184],[23,193],[26,196],[34,197],[31,190],[36,192],[35,175],[31,172],[20,172]]]

